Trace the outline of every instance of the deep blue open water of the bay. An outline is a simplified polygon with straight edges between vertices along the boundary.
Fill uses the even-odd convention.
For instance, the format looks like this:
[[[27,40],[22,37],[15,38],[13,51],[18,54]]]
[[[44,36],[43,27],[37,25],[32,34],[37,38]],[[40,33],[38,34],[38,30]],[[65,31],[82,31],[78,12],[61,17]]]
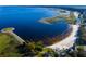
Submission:
[[[57,15],[57,12],[49,8],[0,7],[0,29],[14,27],[14,33],[24,39],[53,37],[69,28],[66,21],[60,20],[52,25],[38,21]]]

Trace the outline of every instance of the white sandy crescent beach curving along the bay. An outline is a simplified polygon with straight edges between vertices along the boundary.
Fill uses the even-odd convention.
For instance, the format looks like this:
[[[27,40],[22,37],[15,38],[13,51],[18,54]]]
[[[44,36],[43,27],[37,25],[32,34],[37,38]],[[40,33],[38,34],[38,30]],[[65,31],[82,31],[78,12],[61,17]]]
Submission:
[[[63,39],[60,42],[56,42],[52,46],[46,47],[46,48],[52,48],[52,49],[62,50],[62,49],[69,49],[71,47],[73,47],[73,43],[74,43],[74,41],[76,39],[75,35],[76,35],[76,33],[78,30],[79,25],[72,25],[72,27],[73,27],[73,31],[71,33],[71,35],[67,38]]]

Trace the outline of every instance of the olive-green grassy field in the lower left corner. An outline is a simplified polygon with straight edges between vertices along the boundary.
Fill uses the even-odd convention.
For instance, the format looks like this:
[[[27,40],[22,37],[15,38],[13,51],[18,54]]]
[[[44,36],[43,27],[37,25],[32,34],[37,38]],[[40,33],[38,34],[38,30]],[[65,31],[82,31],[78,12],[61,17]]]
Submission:
[[[17,52],[17,41],[11,36],[0,33],[0,56],[21,56]]]

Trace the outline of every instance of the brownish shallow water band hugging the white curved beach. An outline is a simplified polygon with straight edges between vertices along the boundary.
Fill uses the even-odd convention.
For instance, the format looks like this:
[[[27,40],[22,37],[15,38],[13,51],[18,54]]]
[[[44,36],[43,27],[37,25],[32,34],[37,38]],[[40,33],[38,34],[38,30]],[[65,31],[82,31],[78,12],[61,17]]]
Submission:
[[[46,38],[44,39],[44,43],[47,46],[52,46],[56,42],[60,42],[61,40],[65,39],[66,37],[69,37],[71,35],[71,31],[73,30],[72,26],[70,25],[69,28],[63,31],[61,35],[52,37],[52,38]]]

